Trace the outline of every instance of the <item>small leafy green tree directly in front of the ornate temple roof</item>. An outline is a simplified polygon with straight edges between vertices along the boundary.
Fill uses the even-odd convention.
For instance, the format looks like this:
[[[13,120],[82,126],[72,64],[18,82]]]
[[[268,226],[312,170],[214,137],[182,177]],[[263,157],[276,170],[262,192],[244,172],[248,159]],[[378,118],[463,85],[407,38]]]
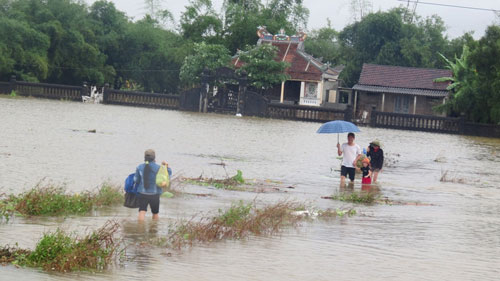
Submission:
[[[258,90],[266,90],[288,79],[285,69],[287,62],[275,61],[278,49],[271,44],[261,44],[245,52],[239,58],[243,66],[239,72],[245,71],[250,85]]]

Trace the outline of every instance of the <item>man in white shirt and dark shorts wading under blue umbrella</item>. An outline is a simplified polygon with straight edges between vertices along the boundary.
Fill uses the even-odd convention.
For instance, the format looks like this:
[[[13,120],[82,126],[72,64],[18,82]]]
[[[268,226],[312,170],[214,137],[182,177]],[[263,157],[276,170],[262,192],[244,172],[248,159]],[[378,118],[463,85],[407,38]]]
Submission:
[[[339,156],[344,154],[342,159],[342,167],[340,168],[340,185],[345,185],[345,177],[349,175],[351,183],[354,182],[356,173],[356,162],[361,156],[361,148],[354,143],[356,136],[354,133],[347,134],[347,142],[340,145],[337,143],[337,152]]]

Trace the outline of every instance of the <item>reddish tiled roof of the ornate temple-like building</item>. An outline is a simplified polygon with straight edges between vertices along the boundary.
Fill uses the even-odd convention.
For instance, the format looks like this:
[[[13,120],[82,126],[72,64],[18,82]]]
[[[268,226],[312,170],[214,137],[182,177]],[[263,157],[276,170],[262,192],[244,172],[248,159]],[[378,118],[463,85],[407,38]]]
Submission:
[[[290,75],[291,80],[321,81],[323,73],[335,76],[342,71],[342,69],[327,67],[326,64],[305,53],[302,50],[302,42],[261,40],[261,44],[269,43],[278,48],[275,60],[286,61],[290,64],[286,73]],[[242,65],[238,56],[233,57],[232,63],[236,68]]]

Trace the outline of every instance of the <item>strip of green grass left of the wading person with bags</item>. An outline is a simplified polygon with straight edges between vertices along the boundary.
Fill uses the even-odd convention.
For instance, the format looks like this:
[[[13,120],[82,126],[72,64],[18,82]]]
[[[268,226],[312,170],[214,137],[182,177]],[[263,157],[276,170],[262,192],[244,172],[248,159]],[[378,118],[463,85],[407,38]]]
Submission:
[[[63,186],[37,185],[19,195],[0,201],[0,216],[8,220],[12,214],[48,216],[85,214],[95,207],[110,206],[123,201],[121,187],[104,183],[95,193],[67,194]]]

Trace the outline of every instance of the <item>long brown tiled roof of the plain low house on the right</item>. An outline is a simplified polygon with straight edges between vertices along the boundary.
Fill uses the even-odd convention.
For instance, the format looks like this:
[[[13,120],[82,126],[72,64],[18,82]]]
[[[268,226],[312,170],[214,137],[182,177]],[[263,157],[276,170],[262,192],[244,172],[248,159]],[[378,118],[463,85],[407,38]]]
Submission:
[[[363,64],[358,84],[392,88],[446,90],[447,82],[436,83],[434,79],[451,77],[446,69],[416,68]]]

